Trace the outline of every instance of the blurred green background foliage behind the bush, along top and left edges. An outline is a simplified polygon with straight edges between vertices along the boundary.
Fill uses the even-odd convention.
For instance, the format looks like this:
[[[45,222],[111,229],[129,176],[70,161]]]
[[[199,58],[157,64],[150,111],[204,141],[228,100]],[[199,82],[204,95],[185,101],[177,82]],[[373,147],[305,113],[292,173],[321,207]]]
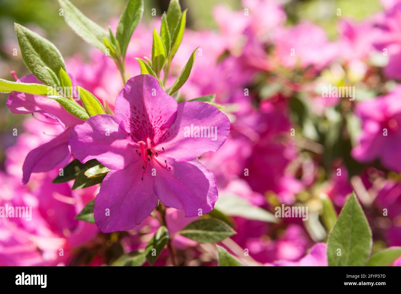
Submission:
[[[126,0],[72,0],[85,15],[106,27],[109,20],[118,18]],[[336,8],[341,8],[341,15],[361,19],[374,15],[381,10],[378,0],[284,0],[288,15],[288,24],[300,20],[310,20],[322,26],[329,38],[336,38],[338,16]],[[158,16],[167,10],[169,0],[145,0],[145,13],[142,21],[151,18],[151,9],[156,8]],[[187,27],[193,30],[215,29],[212,10],[216,4],[224,3],[233,10],[241,9],[241,0],[180,0],[183,10],[188,8]],[[268,17],[268,16],[266,16]],[[0,77],[13,80],[10,71],[17,75],[28,74],[20,54],[12,55],[18,48],[14,34],[14,22],[35,30],[53,42],[64,58],[79,53],[87,57],[91,47],[75,35],[59,16],[57,0],[0,0]],[[19,50],[19,49],[18,49]],[[14,144],[14,128],[19,129],[24,116],[13,115],[8,111],[5,101],[7,95],[0,93],[0,170],[5,159],[4,150]]]

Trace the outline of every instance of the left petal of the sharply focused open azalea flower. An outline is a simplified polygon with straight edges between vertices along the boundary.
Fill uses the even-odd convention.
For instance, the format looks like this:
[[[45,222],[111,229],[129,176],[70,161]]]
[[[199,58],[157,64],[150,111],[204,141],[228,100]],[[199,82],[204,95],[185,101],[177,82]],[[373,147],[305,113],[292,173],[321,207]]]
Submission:
[[[115,117],[109,114],[91,116],[71,131],[68,146],[74,158],[85,163],[96,158],[112,170],[122,170],[131,162],[141,160]]]

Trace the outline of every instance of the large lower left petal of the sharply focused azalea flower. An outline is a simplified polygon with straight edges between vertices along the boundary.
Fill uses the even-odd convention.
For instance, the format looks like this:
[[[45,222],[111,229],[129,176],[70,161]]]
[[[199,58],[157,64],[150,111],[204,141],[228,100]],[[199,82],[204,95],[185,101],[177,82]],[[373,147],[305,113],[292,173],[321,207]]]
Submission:
[[[141,178],[142,167],[138,164],[107,174],[93,210],[103,233],[131,230],[154,210],[158,199],[152,188],[153,177]]]

